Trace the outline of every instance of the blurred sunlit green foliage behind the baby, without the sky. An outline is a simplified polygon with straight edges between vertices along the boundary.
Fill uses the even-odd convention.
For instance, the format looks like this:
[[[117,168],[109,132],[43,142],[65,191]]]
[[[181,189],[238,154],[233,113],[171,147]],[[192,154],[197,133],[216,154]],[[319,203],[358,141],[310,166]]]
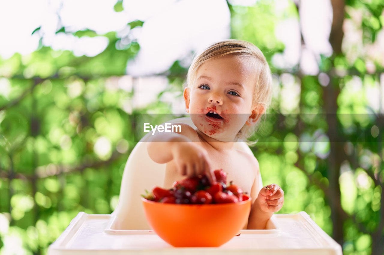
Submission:
[[[365,14],[358,24],[361,43],[376,42],[384,24],[382,2],[349,0],[346,5],[346,10]],[[384,242],[383,116],[374,110],[353,113],[369,109],[364,91],[380,86],[382,63],[369,56],[351,60],[347,52],[322,56],[319,69],[330,79],[324,87],[320,77],[301,74],[299,65],[282,70],[271,63],[285,47],[271,31],[283,19],[299,18],[293,2],[280,11],[266,0],[253,7],[228,6],[232,38],[248,40],[265,52],[279,88],[270,114],[253,137],[260,142],[252,150],[263,182],[278,183],[285,191],[280,213],[308,212],[341,243],[344,254],[373,253],[372,245]],[[122,1],[114,6],[117,12],[122,8]],[[130,29],[142,25],[142,21],[127,24]],[[58,33],[68,32],[64,28]],[[73,34],[97,36],[89,29]],[[42,46],[28,56],[0,58],[0,86],[9,88],[0,94],[2,254],[46,254],[79,211],[111,213],[126,159],[136,144],[134,114],[171,113],[162,95],[176,89],[181,96],[186,68],[176,61],[165,73],[169,84],[157,100],[144,108],[132,107],[135,91],[126,85],[134,78],[125,72],[139,44],[132,41],[122,48],[116,32],[103,36],[109,44],[95,57]],[[375,72],[368,72],[368,60]],[[297,111],[291,114],[281,114],[286,107],[285,80],[300,87]],[[329,109],[326,100],[332,95],[327,88],[334,85],[331,100],[338,129],[330,126],[332,116],[321,114]],[[331,137],[335,132],[338,142]],[[334,143],[341,144],[338,151]],[[334,160],[340,162],[336,177]]]

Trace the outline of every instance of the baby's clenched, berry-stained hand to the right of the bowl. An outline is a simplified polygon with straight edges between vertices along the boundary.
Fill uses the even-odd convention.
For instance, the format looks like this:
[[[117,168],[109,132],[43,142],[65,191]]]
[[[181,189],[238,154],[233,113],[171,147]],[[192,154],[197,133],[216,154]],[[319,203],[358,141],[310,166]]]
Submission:
[[[256,201],[264,212],[280,211],[284,204],[284,191],[277,184],[264,186]]]

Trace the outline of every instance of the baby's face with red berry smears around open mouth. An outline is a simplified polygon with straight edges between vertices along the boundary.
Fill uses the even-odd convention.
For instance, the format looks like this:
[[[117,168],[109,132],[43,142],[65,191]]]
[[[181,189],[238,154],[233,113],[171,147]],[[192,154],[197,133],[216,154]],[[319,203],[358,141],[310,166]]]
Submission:
[[[250,116],[255,76],[250,62],[235,56],[202,64],[185,98],[195,126],[207,136],[233,141]]]

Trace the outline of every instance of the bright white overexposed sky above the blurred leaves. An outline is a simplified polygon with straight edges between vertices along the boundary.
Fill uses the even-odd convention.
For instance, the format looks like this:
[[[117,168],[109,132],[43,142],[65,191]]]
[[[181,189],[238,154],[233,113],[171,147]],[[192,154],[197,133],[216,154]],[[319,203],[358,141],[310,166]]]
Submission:
[[[276,6],[284,7],[289,1],[276,0]],[[230,2],[253,5],[257,0]],[[190,60],[191,51],[199,52],[215,41],[230,37],[230,13],[225,0],[124,0],[124,11],[118,13],[113,10],[116,0],[94,3],[94,0],[1,1],[0,56],[7,59],[15,52],[35,51],[40,35],[43,35],[43,44],[55,50],[71,50],[76,56],[96,56],[108,44],[105,37],[77,38],[55,32],[65,26],[67,31],[88,28],[99,34],[118,31],[124,35],[129,31],[126,24],[138,19],[146,22],[142,28],[131,31],[131,35],[137,38],[141,50],[137,58],[128,63],[127,71],[139,76],[163,72],[177,59]],[[328,36],[332,9],[329,0],[301,0],[301,10],[306,49],[302,49],[300,56],[298,20],[285,20],[275,33],[285,43],[286,50],[273,58],[273,64],[291,67],[301,61],[306,73],[316,74],[319,54],[331,54]],[[31,35],[39,26],[40,31]]]

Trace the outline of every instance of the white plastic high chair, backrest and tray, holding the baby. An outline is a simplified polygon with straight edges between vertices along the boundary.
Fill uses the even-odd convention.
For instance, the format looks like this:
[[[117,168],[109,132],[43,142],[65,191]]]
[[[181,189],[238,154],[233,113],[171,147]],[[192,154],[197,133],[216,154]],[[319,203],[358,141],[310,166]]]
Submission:
[[[170,121],[187,123],[189,118]],[[274,214],[266,229],[240,230],[220,247],[180,247],[167,244],[151,230],[144,216],[141,194],[163,186],[165,164],[153,162],[144,136],[132,150],[124,168],[119,203],[112,214],[79,212],[48,248],[49,255],[78,254],[268,254],[342,255],[341,246],[327,235],[306,212]],[[235,147],[252,154],[245,142]],[[260,187],[262,186],[260,178]],[[185,238],[185,237],[180,237]]]

